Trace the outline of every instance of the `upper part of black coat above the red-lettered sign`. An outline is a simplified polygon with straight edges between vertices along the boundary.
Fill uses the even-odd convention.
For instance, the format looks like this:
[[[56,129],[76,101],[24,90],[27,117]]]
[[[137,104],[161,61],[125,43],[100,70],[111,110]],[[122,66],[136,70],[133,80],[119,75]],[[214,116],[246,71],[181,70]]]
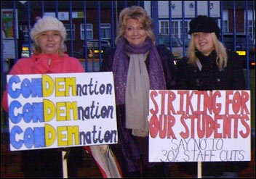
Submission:
[[[242,90],[246,89],[243,72],[243,63],[236,52],[228,52],[228,65],[220,71],[217,64],[212,67],[212,83],[207,81],[201,83],[201,71],[187,63],[187,58],[183,57],[177,65],[177,89],[191,90]]]

